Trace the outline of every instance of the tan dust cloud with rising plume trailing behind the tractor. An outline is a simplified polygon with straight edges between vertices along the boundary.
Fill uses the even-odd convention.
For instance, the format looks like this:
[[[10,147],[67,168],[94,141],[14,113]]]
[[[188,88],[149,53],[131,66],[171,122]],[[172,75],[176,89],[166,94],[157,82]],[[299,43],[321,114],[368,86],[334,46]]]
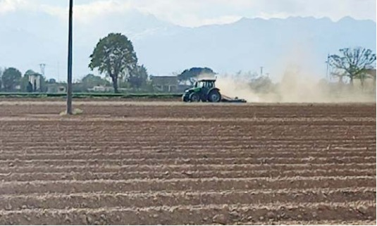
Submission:
[[[306,62],[302,62],[305,59]],[[221,93],[250,103],[346,103],[376,102],[373,80],[366,80],[364,87],[358,80],[354,85],[328,82],[324,75],[312,74],[311,58],[302,52],[294,52],[280,61],[278,80],[261,82],[247,76],[218,75],[216,87]],[[304,69],[303,69],[304,68]],[[266,79],[266,77],[264,77]],[[258,84],[253,84],[258,83]]]

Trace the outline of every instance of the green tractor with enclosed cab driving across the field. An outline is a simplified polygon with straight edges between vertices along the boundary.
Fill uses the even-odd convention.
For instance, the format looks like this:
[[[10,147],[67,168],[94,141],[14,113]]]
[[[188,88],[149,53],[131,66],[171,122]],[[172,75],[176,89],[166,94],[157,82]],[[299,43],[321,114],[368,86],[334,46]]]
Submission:
[[[199,80],[194,87],[187,89],[182,99],[185,102],[220,102],[220,89],[215,87],[216,80]]]

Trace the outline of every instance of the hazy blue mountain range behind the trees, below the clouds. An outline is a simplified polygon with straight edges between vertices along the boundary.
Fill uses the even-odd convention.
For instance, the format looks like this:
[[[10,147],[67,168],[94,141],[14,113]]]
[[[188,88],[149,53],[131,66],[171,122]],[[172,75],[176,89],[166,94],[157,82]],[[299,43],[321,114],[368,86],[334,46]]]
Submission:
[[[66,78],[68,24],[54,15],[18,11],[0,15],[0,67],[39,71]],[[350,17],[242,18],[225,25],[182,27],[154,15],[129,11],[74,23],[73,78],[91,73],[89,55],[101,37],[121,32],[134,44],[149,74],[173,75],[187,68],[209,67],[217,73],[258,72],[280,76],[295,64],[326,74],[328,54],[362,46],[376,52],[376,23]],[[95,72],[94,72],[95,73]]]

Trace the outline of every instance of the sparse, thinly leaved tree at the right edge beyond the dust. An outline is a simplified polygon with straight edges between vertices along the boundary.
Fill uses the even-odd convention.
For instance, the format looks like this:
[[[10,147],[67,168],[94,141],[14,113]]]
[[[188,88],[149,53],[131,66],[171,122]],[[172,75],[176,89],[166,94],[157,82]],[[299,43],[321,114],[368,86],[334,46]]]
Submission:
[[[353,85],[354,79],[364,80],[366,70],[373,68],[376,61],[376,54],[371,49],[340,49],[340,55],[329,56],[329,63],[337,71],[333,75],[338,77],[347,76],[350,78],[350,84]]]

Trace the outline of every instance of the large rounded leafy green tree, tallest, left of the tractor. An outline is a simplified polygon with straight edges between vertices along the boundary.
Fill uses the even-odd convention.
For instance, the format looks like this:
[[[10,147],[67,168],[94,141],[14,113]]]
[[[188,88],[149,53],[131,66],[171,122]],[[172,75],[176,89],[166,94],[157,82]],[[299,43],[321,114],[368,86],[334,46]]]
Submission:
[[[130,73],[137,65],[137,56],[132,42],[123,34],[111,33],[99,39],[94,48],[89,68],[111,77],[114,92],[118,92],[118,79]]]

